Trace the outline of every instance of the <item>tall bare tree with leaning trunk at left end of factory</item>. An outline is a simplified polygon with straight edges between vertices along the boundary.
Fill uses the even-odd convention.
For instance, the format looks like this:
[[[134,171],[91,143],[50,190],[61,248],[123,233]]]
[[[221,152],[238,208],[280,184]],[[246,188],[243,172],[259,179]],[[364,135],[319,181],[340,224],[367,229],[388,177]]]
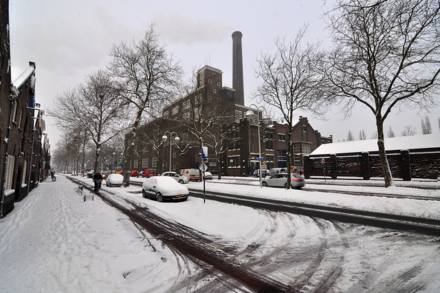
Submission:
[[[124,158],[124,186],[129,186],[129,164],[133,155],[135,136],[145,112],[155,111],[157,104],[173,100],[176,84],[180,80],[181,67],[159,43],[155,25],[150,25],[144,39],[133,41],[131,45],[121,43],[113,46],[109,65],[116,85],[123,98],[133,107],[131,135]]]

